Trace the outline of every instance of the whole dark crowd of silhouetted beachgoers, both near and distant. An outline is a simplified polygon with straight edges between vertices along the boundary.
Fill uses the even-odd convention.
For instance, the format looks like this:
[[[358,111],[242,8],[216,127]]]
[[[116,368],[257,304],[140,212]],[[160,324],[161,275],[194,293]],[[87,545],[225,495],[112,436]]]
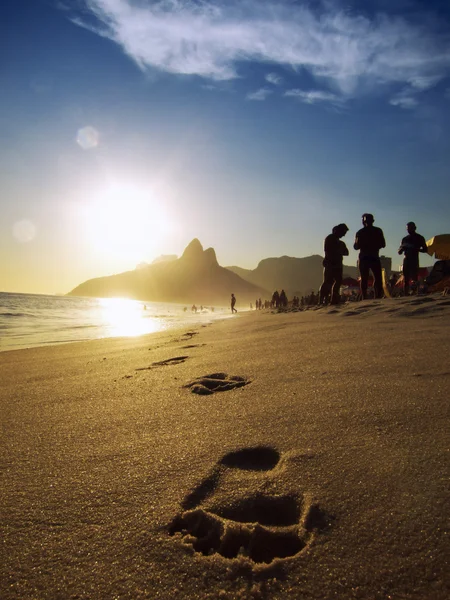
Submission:
[[[374,216],[370,213],[362,215],[362,228],[356,232],[353,248],[359,250],[358,269],[360,273],[359,292],[353,291],[346,300],[365,300],[368,297],[370,274],[373,277],[373,294],[375,298],[383,298],[387,288],[394,289],[400,274],[392,273],[383,281],[383,270],[380,260],[380,250],[386,247],[383,230],[374,225]],[[403,237],[398,254],[403,255],[403,294],[406,296],[411,289],[417,289],[419,272],[419,252],[427,252],[425,238],[417,233],[416,224],[410,221],[406,224],[407,235]],[[309,295],[299,298],[294,295],[288,301],[284,289],[275,290],[271,300],[256,299],[255,310],[262,308],[285,309],[317,306],[324,304],[340,304],[343,300],[341,287],[343,281],[343,259],[349,255],[348,248],[342,238],[349,228],[345,223],[333,227],[324,241],[323,282],[318,293],[312,291]],[[231,311],[235,308],[236,298],[231,294]],[[253,305],[250,303],[250,308]]]

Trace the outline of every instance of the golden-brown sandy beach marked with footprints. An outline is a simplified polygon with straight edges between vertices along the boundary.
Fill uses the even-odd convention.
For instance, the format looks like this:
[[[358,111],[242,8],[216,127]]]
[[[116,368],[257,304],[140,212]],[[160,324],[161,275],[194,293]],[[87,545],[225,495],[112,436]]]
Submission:
[[[450,298],[0,353],[0,597],[450,597]]]

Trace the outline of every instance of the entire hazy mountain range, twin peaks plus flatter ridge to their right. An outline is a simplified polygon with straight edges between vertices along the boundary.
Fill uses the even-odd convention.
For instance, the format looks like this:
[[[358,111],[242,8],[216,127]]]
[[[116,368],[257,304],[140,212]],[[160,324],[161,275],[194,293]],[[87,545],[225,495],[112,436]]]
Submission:
[[[344,270],[355,276],[355,267]],[[254,270],[221,267],[214,248],[203,250],[195,238],[180,258],[168,256],[133,271],[90,279],[69,295],[214,305],[227,304],[233,292],[242,306],[256,298],[270,299],[275,289],[304,295],[317,290],[321,281],[321,256],[267,258]]]

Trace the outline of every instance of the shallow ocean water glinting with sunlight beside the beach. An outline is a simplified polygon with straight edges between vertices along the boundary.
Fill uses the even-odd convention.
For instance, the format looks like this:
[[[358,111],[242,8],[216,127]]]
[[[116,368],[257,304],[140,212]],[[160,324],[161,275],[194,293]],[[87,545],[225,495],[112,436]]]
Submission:
[[[121,298],[0,292],[0,351],[110,337],[135,337],[229,316],[229,308]]]

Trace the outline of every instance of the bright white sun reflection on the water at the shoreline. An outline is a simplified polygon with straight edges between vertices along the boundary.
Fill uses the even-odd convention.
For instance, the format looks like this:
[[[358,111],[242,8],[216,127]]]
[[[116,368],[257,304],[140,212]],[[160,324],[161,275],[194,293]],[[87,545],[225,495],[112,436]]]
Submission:
[[[165,329],[164,320],[148,314],[137,300],[99,298],[99,305],[108,334],[113,337],[134,337]]]

